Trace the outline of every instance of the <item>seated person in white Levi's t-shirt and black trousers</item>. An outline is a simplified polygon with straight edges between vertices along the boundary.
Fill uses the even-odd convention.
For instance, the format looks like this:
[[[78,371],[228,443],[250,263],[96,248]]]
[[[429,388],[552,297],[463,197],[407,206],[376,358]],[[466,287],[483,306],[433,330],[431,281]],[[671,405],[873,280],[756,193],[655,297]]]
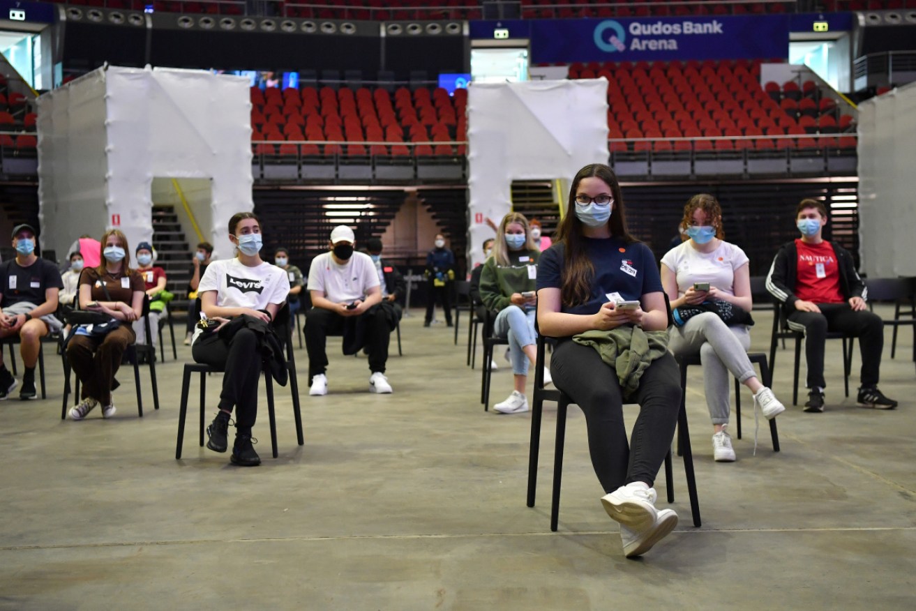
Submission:
[[[257,382],[262,369],[257,335],[242,328],[226,341],[217,332],[236,316],[271,322],[289,294],[289,279],[283,269],[261,260],[258,254],[262,245],[261,225],[254,213],[233,215],[229,220],[229,240],[238,255],[213,261],[197,289],[201,311],[220,325],[210,333],[195,331],[191,355],[196,362],[225,372],[219,411],[207,427],[207,447],[220,453],[228,449],[229,415],[235,408],[231,461],[255,466],[261,463],[251,441],[251,428],[257,417]]]

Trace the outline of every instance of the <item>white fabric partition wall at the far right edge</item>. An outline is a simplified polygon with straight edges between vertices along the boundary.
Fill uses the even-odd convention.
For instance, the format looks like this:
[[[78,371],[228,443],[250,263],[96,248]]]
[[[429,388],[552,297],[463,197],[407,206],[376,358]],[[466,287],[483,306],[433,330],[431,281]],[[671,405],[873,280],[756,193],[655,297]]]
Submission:
[[[859,254],[873,278],[916,276],[916,84],[859,104]]]

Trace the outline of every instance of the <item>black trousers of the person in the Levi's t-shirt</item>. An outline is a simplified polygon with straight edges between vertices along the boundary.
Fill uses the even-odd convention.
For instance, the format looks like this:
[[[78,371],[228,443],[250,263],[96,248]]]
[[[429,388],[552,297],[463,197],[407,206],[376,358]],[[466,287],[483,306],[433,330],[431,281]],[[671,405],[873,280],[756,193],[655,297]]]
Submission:
[[[216,333],[202,335],[194,342],[191,355],[197,363],[225,371],[219,408],[235,408],[235,426],[241,431],[255,426],[257,380],[263,371],[256,333],[239,329],[228,343]]]

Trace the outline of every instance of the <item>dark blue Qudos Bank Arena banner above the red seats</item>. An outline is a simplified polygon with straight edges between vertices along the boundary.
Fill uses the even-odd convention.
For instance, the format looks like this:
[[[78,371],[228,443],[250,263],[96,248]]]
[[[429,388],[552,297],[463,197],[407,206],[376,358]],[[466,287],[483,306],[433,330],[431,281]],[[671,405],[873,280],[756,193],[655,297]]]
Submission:
[[[551,19],[529,27],[535,63],[789,56],[787,15]]]

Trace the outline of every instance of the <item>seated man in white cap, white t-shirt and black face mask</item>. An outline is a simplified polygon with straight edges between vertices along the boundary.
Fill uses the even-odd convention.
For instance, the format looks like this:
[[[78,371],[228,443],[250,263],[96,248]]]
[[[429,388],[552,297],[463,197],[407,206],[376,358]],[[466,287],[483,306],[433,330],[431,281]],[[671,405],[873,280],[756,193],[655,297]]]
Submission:
[[[344,335],[344,355],[365,348],[369,355],[369,391],[390,393],[385,376],[388,338],[398,324],[391,310],[379,307],[382,291],[376,264],[354,252],[355,236],[346,225],[331,232],[330,252],[316,256],[309,268],[311,310],[306,312],[305,345],[309,353],[309,394],[328,393],[327,336]]]

